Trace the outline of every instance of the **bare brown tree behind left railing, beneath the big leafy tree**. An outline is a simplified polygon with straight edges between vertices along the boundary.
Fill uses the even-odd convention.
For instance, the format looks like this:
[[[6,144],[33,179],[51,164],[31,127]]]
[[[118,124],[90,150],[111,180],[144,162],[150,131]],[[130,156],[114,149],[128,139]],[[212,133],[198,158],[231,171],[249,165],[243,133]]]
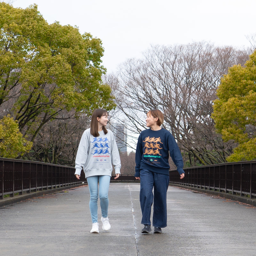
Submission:
[[[68,117],[68,114],[67,114]],[[45,163],[74,166],[79,141],[89,128],[89,117],[55,119],[44,124],[25,157]]]

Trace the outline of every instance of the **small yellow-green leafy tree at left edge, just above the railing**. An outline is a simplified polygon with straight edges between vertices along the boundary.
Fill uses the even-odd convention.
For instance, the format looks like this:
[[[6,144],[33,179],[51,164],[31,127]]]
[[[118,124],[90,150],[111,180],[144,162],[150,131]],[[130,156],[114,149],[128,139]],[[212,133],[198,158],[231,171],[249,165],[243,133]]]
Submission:
[[[0,120],[0,157],[16,158],[24,155],[32,147],[32,142],[21,134],[18,122],[10,115]]]

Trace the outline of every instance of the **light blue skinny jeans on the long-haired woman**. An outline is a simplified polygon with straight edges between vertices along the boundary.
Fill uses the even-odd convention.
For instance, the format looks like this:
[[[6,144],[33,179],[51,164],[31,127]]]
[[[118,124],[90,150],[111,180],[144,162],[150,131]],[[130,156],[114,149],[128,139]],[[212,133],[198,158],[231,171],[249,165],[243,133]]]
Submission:
[[[99,188],[98,188],[99,181]],[[108,217],[108,188],[110,176],[96,175],[87,177],[87,183],[90,190],[90,212],[92,223],[98,222],[98,197],[100,197],[100,208],[103,218]]]

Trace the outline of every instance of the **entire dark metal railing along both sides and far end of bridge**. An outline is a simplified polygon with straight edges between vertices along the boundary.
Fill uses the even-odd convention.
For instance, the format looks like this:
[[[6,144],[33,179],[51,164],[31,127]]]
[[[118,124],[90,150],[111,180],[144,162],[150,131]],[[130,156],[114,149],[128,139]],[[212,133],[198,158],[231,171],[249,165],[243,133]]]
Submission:
[[[224,163],[185,168],[180,180],[176,170],[170,171],[170,184],[230,193],[256,198],[256,161]],[[77,180],[75,168],[34,161],[0,158],[0,199],[31,191],[79,185],[86,182],[84,172]],[[139,182],[134,174],[120,175],[111,182]]]

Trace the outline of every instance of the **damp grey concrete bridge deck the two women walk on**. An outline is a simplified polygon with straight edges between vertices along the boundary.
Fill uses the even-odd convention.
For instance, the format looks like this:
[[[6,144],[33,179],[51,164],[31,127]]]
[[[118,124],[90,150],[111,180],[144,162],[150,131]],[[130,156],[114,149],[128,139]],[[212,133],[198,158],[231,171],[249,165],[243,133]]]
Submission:
[[[91,234],[81,186],[0,208],[1,256],[255,256],[256,208],[169,187],[168,226],[141,234],[139,183],[110,183],[111,229]],[[100,221],[99,207],[99,223]]]

